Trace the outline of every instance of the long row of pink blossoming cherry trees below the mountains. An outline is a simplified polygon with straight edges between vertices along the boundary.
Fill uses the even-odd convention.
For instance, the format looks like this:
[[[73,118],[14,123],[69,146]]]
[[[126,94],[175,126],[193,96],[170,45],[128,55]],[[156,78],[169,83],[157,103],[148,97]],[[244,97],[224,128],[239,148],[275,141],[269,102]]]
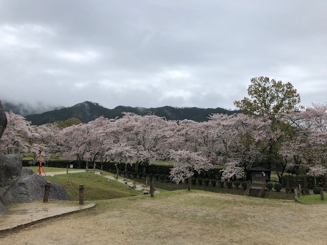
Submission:
[[[196,122],[124,113],[119,119],[101,116],[64,129],[56,124],[31,126],[20,115],[6,115],[8,126],[0,141],[2,154],[37,152],[41,147],[45,158],[58,155],[102,164],[114,160],[126,167],[172,160],[176,164],[171,177],[180,182],[215,164],[226,166],[223,179],[241,178],[253,164],[267,160],[269,145],[279,140],[277,154],[281,159],[270,164],[280,177],[289,163],[311,167],[312,175],[326,173],[327,104],[280,115],[277,119],[284,128],[271,127],[269,116],[246,114],[213,114],[208,121]]]

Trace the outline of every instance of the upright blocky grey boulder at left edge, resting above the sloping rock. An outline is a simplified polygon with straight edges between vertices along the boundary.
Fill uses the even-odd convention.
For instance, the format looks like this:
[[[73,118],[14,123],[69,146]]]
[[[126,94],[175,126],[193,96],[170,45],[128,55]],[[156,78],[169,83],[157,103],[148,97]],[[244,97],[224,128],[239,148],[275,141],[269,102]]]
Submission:
[[[0,198],[18,180],[22,168],[19,155],[0,156]]]

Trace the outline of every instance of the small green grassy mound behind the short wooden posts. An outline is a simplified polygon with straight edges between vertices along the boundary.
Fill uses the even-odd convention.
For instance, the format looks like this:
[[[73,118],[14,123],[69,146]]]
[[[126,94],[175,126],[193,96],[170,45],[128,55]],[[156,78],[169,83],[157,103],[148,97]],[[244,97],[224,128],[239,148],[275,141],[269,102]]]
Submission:
[[[86,201],[124,198],[139,194],[139,191],[92,173],[72,173],[68,175],[47,176],[46,179],[61,184],[72,200],[79,200],[79,185],[84,185]]]

